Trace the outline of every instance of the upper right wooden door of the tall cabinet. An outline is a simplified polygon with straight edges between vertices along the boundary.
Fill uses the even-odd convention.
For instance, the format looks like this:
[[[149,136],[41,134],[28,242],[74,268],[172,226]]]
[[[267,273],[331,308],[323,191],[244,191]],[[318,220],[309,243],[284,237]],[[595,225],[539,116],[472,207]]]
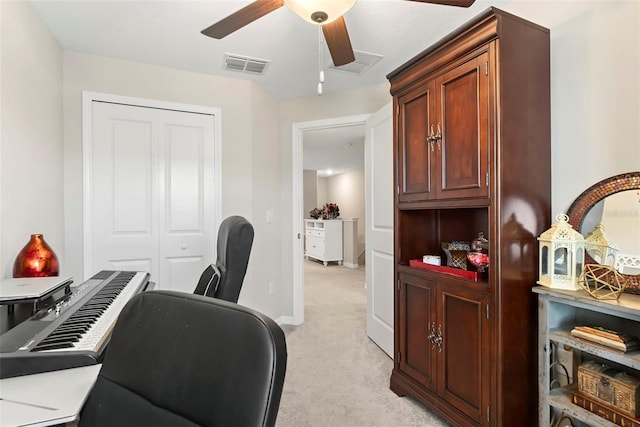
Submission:
[[[489,63],[485,52],[436,78],[439,199],[489,194]]]

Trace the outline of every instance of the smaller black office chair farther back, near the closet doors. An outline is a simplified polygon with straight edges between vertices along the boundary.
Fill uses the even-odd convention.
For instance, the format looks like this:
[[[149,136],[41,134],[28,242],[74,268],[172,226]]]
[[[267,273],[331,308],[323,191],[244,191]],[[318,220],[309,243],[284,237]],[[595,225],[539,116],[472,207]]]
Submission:
[[[253,226],[241,216],[230,216],[218,230],[218,259],[200,276],[194,291],[229,302],[238,302],[253,244]]]

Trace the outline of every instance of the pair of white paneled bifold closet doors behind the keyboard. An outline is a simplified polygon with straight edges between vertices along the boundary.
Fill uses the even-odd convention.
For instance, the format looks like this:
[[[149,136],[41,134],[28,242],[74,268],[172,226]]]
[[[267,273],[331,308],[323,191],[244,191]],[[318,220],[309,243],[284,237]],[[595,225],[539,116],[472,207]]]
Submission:
[[[156,289],[193,292],[215,261],[213,116],[97,101],[92,116],[85,276],[148,271]]]

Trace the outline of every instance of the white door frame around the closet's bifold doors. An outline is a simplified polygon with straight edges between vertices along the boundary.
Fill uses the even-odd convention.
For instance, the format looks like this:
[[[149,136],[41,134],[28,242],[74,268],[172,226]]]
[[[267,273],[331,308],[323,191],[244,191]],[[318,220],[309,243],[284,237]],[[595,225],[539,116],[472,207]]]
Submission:
[[[124,104],[135,107],[146,107],[158,110],[182,111],[186,113],[206,114],[213,116],[213,222],[214,222],[214,251],[218,238],[218,227],[222,221],[222,110],[217,107],[204,105],[182,104],[147,98],[113,95],[100,92],[82,92],[82,275],[83,280],[89,279],[91,260],[93,260],[93,102]]]

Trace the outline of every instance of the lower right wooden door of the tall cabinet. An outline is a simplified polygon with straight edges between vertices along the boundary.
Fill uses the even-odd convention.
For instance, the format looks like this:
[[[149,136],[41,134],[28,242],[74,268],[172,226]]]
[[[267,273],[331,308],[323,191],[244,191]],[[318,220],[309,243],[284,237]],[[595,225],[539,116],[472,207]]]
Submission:
[[[481,425],[487,425],[491,390],[489,298],[439,284],[438,299],[442,325],[438,394]]]

